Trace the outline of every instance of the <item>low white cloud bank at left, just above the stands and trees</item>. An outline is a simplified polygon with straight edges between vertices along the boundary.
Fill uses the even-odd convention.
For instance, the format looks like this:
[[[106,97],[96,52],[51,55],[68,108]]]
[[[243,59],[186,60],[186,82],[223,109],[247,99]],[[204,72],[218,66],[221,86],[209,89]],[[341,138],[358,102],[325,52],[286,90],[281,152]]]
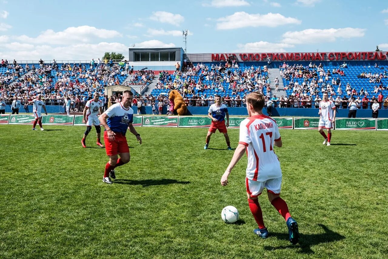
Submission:
[[[90,60],[101,58],[105,52],[128,52],[128,47],[121,43],[100,42],[98,44],[72,44],[68,46],[53,47],[49,45],[27,46],[29,49],[17,48],[17,42],[12,45],[0,45],[3,51],[2,58],[16,60],[39,60],[39,59],[55,59],[55,60]]]

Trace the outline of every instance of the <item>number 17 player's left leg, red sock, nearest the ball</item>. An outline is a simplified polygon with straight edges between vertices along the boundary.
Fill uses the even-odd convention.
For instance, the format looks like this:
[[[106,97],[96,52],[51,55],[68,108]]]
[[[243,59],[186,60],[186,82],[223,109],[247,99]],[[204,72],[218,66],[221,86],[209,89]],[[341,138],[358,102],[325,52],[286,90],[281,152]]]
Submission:
[[[245,184],[246,194],[248,196],[249,209],[251,210],[253,218],[255,218],[255,221],[258,225],[258,228],[255,228],[253,230],[253,233],[258,235],[259,237],[267,238],[268,230],[264,225],[263,212],[257,199],[258,196],[262,194],[264,183],[245,178]]]

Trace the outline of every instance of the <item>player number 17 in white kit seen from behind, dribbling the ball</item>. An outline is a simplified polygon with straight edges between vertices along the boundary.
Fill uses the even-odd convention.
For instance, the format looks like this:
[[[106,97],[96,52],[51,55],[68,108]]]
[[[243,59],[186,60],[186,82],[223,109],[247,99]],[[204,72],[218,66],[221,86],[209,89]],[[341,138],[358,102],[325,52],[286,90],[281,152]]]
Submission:
[[[258,224],[258,228],[253,232],[261,238],[268,237],[268,230],[264,225],[262,210],[258,202],[258,196],[266,188],[271,204],[286,220],[289,241],[294,245],[299,240],[298,223],[291,218],[287,203],[280,197],[282,170],[273,147],[281,147],[282,140],[276,121],[263,114],[264,102],[262,93],[252,92],[246,96],[249,117],[240,124],[239,145],[222,175],[221,185],[228,184],[230,172],[246,151],[248,156],[246,192],[249,209]]]

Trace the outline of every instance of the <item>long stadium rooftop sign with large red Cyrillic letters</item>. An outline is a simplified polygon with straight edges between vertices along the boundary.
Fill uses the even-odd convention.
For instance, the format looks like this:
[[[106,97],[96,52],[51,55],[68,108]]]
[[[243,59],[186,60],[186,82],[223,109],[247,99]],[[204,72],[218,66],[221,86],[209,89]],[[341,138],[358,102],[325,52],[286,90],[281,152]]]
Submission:
[[[220,53],[211,54],[211,61],[332,61],[332,60],[386,60],[388,52],[294,52],[294,53]]]

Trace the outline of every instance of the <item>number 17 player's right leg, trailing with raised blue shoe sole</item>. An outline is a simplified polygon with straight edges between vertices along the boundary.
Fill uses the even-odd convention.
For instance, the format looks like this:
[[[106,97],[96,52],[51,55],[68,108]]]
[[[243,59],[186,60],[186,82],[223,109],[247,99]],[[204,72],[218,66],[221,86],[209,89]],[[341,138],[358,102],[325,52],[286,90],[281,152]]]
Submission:
[[[282,177],[270,179],[265,182],[268,200],[286,220],[289,233],[289,241],[295,245],[299,241],[298,223],[291,217],[287,203],[280,197]]]

